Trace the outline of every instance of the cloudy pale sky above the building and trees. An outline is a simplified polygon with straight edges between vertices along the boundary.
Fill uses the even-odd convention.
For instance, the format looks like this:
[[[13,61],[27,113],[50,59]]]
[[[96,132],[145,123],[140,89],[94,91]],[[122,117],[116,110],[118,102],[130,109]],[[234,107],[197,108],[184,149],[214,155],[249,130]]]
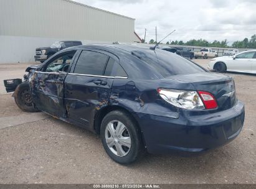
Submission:
[[[256,0],[73,0],[135,21],[135,32],[146,42],[176,30],[170,40],[225,40],[232,44],[256,34]]]

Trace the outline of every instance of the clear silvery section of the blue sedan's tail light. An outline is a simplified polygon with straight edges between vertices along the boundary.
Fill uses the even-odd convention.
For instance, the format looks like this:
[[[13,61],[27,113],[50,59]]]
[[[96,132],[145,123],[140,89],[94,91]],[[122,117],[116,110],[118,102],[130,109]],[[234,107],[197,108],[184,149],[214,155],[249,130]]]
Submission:
[[[204,104],[196,91],[179,91],[159,88],[158,93],[166,102],[183,109],[204,109]]]

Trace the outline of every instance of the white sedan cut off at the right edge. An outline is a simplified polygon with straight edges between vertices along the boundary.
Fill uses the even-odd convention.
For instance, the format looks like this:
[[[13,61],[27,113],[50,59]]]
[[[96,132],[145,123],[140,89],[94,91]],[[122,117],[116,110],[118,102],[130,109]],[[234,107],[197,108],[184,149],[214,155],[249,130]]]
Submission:
[[[256,50],[238,53],[233,57],[217,57],[209,62],[210,70],[256,73]]]

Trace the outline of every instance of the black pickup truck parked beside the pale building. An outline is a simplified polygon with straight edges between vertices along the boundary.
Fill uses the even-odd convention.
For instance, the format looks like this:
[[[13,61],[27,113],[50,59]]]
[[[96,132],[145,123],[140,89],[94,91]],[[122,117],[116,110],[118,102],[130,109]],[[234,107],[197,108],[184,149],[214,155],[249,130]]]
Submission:
[[[64,48],[82,45],[80,41],[58,41],[52,44],[50,47],[36,48],[35,61],[44,62],[47,58],[52,57],[56,52],[63,50]]]

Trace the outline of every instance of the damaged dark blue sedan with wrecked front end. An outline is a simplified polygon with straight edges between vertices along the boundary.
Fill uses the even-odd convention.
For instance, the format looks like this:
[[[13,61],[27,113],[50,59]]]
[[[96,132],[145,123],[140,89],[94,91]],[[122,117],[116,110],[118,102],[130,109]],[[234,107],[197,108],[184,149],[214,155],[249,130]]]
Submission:
[[[17,105],[100,134],[120,164],[145,150],[205,152],[235,139],[244,124],[232,77],[158,48],[71,47],[27,71]]]

